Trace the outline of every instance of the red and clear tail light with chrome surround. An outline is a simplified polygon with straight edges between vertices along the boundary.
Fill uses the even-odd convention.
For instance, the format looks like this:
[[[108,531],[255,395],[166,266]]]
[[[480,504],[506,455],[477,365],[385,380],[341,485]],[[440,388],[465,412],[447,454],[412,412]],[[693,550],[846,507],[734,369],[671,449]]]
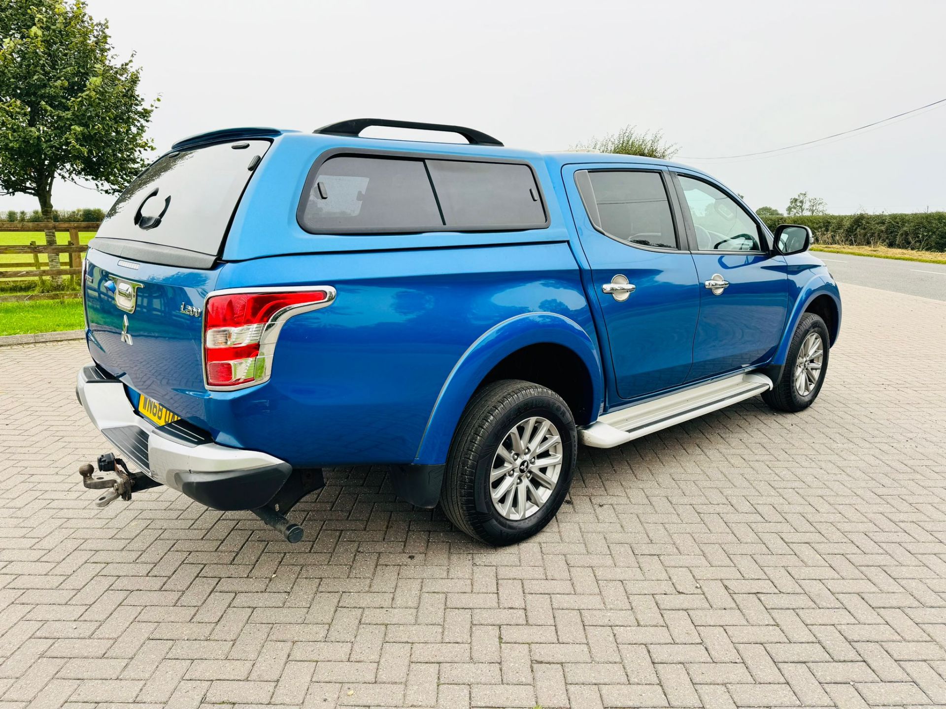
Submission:
[[[203,366],[208,389],[241,389],[270,378],[276,339],[289,318],[328,305],[335,288],[220,291],[204,303]]]

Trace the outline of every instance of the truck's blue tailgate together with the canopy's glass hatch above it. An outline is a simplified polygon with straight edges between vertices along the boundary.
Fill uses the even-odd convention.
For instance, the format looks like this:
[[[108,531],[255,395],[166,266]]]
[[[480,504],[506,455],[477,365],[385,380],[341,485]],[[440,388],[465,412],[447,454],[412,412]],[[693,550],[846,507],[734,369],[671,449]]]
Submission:
[[[201,415],[201,309],[243,191],[270,142],[170,152],[119,197],[90,244],[84,278],[98,364],[183,416]]]

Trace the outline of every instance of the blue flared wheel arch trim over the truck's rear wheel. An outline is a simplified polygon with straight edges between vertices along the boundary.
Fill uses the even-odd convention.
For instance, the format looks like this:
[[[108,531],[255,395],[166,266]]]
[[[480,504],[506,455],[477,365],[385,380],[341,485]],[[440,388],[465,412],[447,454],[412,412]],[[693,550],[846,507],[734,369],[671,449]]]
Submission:
[[[523,313],[491,327],[471,344],[447,375],[430,411],[415,463],[443,463],[466,403],[496,365],[518,350],[537,344],[568,348],[586,366],[591,406],[600,411],[604,391],[601,357],[594,340],[574,320],[556,313]]]

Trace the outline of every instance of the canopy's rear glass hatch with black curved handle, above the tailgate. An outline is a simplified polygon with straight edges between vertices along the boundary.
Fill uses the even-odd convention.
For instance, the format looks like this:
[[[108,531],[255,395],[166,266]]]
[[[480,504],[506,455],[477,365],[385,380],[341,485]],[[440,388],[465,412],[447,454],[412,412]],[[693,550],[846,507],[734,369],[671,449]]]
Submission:
[[[96,239],[218,254],[243,189],[269,147],[266,140],[244,140],[168,153],[115,201]]]

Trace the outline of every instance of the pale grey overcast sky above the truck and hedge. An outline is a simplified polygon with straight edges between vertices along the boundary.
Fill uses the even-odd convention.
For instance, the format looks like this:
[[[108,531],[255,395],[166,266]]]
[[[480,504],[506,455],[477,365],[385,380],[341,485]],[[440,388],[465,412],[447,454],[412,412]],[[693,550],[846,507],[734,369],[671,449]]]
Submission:
[[[354,117],[466,125],[560,150],[626,124],[758,208],[807,190],[833,213],[946,209],[946,104],[880,130],[783,147],[946,97],[946,2],[89,0],[142,91],[159,150],[232,126]],[[62,209],[114,198],[58,181]],[[35,209],[0,197],[0,209]]]

